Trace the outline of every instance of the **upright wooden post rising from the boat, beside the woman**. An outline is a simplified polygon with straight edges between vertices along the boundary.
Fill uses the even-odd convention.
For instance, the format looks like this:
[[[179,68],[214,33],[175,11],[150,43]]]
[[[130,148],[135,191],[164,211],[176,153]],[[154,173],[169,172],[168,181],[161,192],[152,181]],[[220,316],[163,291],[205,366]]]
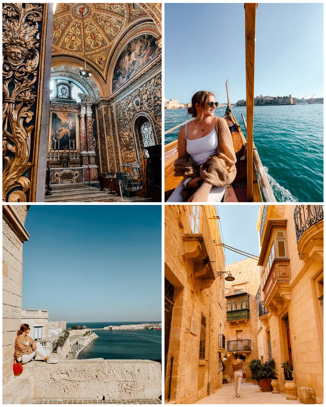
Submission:
[[[253,199],[253,100],[255,84],[256,9],[258,3],[245,3],[246,96],[247,96],[247,202]]]

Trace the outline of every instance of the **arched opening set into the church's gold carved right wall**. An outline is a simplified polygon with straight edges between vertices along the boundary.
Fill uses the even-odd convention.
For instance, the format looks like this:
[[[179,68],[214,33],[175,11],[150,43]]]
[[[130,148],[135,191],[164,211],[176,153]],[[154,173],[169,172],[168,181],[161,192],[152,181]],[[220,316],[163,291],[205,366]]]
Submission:
[[[137,113],[132,120],[132,135],[136,148],[137,159],[140,163],[148,158],[148,151],[144,147],[159,144],[151,116],[146,112]]]

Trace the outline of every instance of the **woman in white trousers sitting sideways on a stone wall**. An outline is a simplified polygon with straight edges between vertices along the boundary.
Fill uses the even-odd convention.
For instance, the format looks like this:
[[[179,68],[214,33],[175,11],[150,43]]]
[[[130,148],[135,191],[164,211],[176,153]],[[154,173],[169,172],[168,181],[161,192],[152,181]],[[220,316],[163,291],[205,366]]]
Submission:
[[[57,359],[53,359],[47,355],[46,350],[44,350],[41,344],[36,343],[31,337],[27,336],[29,330],[29,325],[22,324],[17,331],[17,338],[15,340],[16,361],[18,363],[22,362],[24,365],[38,354],[40,357],[44,358],[46,363],[58,363]]]

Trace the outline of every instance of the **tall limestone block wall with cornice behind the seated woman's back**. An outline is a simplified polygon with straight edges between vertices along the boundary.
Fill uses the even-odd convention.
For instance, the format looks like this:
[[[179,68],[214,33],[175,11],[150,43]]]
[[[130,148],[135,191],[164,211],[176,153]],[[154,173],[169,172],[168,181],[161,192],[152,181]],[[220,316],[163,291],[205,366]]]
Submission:
[[[29,206],[2,207],[2,383],[13,379],[13,353],[22,316],[22,249]]]

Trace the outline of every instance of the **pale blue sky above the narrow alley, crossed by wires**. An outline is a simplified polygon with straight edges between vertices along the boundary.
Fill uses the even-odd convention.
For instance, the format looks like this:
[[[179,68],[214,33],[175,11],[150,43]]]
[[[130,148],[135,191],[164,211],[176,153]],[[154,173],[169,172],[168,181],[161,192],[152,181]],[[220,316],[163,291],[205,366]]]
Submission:
[[[219,226],[223,243],[244,252],[259,256],[256,222],[259,205],[218,205]],[[248,257],[225,249],[226,263],[236,263]]]

